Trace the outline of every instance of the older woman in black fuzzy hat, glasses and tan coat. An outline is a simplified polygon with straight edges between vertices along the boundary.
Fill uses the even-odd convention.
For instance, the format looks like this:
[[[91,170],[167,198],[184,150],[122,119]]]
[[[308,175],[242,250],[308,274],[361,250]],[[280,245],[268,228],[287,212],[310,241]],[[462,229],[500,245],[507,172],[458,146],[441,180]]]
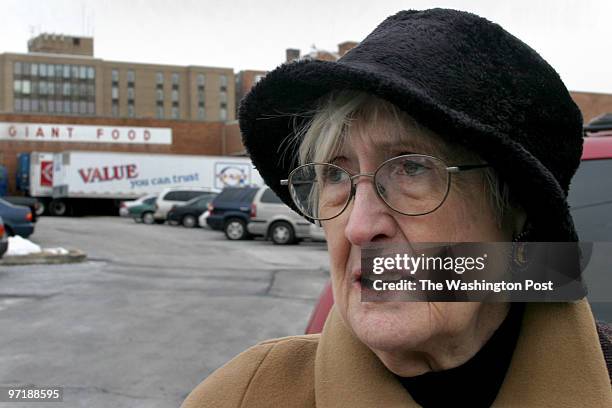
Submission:
[[[338,62],[271,72],[240,113],[265,181],[325,230],[335,306],[184,407],[612,406],[584,300],[361,301],[369,243],[577,240],[582,118],[535,51],[472,14],[400,12]]]

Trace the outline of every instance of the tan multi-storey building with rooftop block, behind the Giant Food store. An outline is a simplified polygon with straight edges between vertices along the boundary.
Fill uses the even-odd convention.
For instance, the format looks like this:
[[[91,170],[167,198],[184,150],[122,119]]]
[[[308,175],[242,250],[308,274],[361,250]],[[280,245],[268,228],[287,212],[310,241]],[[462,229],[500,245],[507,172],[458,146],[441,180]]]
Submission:
[[[0,112],[235,120],[232,68],[94,58],[93,38],[41,34],[0,54]]]

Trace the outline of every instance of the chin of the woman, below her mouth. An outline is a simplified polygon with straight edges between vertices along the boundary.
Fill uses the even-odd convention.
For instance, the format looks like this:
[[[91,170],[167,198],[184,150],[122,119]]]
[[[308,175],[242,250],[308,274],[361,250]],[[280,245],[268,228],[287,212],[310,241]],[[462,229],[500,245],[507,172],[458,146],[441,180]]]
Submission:
[[[432,335],[426,302],[361,302],[351,299],[345,318],[368,347],[381,351],[417,349]]]

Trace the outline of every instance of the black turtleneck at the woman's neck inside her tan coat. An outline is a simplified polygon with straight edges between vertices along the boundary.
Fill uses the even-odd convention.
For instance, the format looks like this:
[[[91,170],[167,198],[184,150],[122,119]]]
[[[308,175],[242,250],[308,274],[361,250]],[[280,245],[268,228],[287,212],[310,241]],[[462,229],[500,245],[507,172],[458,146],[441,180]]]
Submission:
[[[512,303],[508,315],[474,357],[445,371],[399,377],[412,398],[424,408],[490,407],[504,382],[516,346],[523,303]]]

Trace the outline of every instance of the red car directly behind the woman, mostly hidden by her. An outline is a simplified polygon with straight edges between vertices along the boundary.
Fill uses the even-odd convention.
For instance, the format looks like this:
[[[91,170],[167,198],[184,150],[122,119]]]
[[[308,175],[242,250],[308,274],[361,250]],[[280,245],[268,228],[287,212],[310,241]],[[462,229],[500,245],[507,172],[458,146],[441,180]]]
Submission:
[[[568,201],[581,240],[612,241],[612,136],[584,139],[582,163],[572,179]],[[602,222],[606,219],[608,222]],[[328,282],[310,316],[306,334],[323,330],[333,304]]]

